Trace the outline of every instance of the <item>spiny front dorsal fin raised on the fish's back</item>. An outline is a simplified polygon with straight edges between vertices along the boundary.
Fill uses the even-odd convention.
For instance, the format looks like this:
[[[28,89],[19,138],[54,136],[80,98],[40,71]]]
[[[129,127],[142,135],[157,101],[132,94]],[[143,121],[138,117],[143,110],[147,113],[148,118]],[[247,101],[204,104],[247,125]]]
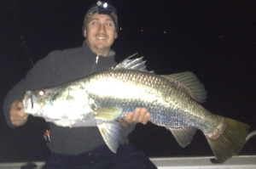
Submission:
[[[137,53],[136,53],[137,54]],[[132,54],[128,58],[121,61],[118,65],[116,65],[113,69],[130,69],[130,70],[141,70],[146,71],[146,61],[143,61],[143,57],[137,59],[130,59],[131,57],[135,56],[136,54]]]

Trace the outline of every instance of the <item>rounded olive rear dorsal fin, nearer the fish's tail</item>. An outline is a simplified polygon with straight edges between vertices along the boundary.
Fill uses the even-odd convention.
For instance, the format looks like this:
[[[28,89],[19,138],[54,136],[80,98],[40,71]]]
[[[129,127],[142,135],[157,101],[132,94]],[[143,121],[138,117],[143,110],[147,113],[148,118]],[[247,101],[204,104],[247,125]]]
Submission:
[[[207,91],[198,78],[190,71],[165,76],[178,87],[182,87],[186,93],[199,103],[207,101]]]

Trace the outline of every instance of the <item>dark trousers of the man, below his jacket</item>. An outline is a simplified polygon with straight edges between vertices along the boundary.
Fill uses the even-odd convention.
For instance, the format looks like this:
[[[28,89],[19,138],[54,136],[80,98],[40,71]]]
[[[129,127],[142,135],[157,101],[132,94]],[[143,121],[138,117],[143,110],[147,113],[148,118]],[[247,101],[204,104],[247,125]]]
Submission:
[[[43,169],[157,169],[143,151],[131,144],[120,144],[114,154],[107,145],[102,145],[81,155],[59,155],[52,153]]]

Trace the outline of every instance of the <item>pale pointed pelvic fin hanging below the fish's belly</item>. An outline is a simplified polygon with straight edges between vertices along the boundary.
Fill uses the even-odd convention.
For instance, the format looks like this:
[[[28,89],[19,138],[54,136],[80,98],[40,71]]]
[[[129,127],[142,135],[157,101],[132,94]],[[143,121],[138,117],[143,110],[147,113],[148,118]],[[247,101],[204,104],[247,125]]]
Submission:
[[[116,153],[119,148],[119,141],[121,139],[120,130],[121,124],[118,121],[103,122],[98,125],[100,132],[102,133],[102,138],[108,145],[108,148]]]

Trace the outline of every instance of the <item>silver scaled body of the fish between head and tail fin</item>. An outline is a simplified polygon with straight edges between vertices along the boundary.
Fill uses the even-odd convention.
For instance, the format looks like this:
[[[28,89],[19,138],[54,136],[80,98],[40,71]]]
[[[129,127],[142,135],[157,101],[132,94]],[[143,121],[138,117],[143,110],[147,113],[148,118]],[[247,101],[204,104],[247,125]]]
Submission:
[[[183,75],[193,76],[190,72]],[[218,122],[213,127],[206,125],[214,124],[218,117],[210,114],[167,76],[138,70],[106,70],[90,76],[88,81],[83,79],[80,83],[88,89],[96,109],[122,108],[120,116],[124,116],[125,112],[133,111],[137,107],[146,107],[151,115],[149,121],[159,126],[191,126],[203,131],[212,131],[218,126]],[[200,115],[197,115],[198,112]],[[207,116],[211,117],[206,118]]]

